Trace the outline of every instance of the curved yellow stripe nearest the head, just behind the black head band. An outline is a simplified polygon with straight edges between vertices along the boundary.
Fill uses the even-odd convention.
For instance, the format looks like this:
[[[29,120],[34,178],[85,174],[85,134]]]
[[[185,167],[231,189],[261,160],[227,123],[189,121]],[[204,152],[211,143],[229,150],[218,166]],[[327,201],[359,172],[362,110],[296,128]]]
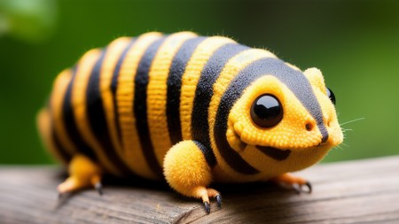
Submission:
[[[209,134],[213,149],[217,149],[214,137],[215,117],[217,108],[220,104],[220,99],[222,98],[224,91],[229,87],[230,82],[234,79],[234,77],[239,73],[241,69],[260,58],[276,58],[276,56],[267,50],[245,50],[235,57],[231,58],[226,63],[226,65],[223,67],[222,73],[220,73],[220,76],[215,81],[215,84],[213,86],[214,94],[212,96],[208,109]],[[235,174],[235,171],[227,165],[227,163],[220,155],[219,151],[214,150],[214,153],[216,160],[218,161],[218,166],[222,166],[223,170],[231,170],[230,174]]]

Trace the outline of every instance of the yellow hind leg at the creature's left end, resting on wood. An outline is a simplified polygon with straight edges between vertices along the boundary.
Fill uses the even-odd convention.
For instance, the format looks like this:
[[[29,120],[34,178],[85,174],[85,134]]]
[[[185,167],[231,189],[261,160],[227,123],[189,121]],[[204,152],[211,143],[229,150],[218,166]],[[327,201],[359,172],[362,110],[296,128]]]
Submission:
[[[90,158],[75,155],[68,165],[69,177],[59,184],[59,195],[79,189],[94,187],[102,195],[102,170]]]

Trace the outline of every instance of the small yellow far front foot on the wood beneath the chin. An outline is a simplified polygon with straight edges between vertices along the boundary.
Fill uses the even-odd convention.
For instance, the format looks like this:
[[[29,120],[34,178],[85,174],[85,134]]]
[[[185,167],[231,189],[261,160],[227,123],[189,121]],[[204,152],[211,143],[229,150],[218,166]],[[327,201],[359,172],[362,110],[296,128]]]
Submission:
[[[306,192],[310,194],[312,192],[312,185],[310,184],[310,182],[301,177],[294,176],[293,174],[281,174],[277,177],[272,178],[270,181],[288,186],[298,193]],[[308,190],[303,189],[303,186],[306,186]]]

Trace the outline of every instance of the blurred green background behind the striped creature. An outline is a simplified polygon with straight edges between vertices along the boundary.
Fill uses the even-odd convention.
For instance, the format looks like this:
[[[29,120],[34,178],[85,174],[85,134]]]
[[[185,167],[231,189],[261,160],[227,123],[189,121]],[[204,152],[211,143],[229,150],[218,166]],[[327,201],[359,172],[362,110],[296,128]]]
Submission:
[[[324,161],[399,154],[398,1],[0,0],[0,163],[52,159],[35,129],[51,82],[121,35],[192,30],[317,66],[337,97],[345,144]]]

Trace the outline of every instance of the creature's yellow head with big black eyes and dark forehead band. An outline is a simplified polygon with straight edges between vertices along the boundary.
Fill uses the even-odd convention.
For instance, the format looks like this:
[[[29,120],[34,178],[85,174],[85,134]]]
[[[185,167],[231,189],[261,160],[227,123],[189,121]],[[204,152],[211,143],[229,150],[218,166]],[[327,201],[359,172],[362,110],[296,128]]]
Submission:
[[[317,163],[342,142],[335,97],[322,73],[261,75],[231,108],[227,141],[246,162],[271,174]],[[291,69],[288,67],[288,70]]]

